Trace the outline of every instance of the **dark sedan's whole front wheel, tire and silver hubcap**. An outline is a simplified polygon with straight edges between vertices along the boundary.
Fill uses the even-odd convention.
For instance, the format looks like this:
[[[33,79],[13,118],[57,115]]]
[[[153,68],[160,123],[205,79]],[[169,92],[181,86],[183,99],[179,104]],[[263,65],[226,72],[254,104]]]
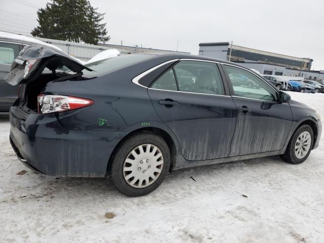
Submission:
[[[308,157],[314,142],[314,133],[309,125],[299,127],[289,141],[281,158],[291,164],[301,164]]]

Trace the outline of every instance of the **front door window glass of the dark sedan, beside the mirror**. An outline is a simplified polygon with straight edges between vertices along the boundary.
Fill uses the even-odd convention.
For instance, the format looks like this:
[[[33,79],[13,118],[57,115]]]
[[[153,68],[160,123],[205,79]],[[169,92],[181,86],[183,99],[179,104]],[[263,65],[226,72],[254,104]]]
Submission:
[[[224,65],[232,83],[235,96],[242,98],[276,101],[276,92],[261,78],[238,67]]]

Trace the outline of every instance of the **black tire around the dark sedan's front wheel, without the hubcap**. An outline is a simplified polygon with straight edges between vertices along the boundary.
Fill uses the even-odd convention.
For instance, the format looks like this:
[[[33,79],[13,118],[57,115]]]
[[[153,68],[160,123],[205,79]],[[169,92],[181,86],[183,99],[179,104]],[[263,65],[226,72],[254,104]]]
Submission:
[[[305,155],[305,157],[299,159],[295,155],[295,144],[296,144],[296,140],[297,140],[298,136],[302,132],[305,132],[305,131],[309,132],[310,136],[311,136],[310,149],[309,149],[308,153]],[[297,128],[297,130],[294,132],[292,138],[289,141],[289,144],[287,146],[285,154],[282,154],[280,156],[281,156],[282,159],[284,159],[286,162],[288,162],[290,164],[294,164],[294,165],[301,164],[309,156],[309,153],[310,153],[310,151],[312,150],[312,147],[313,147],[313,143],[314,143],[313,130],[311,129],[311,127],[309,125],[302,125],[299,128]]]

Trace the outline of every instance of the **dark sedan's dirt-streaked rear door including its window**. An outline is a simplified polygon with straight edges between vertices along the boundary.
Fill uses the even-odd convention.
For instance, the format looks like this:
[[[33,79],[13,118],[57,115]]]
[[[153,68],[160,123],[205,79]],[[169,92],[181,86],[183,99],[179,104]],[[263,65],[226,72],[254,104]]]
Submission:
[[[185,159],[229,155],[236,107],[215,62],[182,60],[160,75],[148,94]]]

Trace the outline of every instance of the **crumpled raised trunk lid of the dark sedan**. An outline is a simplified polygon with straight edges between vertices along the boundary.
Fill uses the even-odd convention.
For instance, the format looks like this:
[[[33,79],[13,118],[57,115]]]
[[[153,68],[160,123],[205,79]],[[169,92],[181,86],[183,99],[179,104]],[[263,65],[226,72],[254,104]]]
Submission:
[[[12,86],[24,84],[36,79],[45,68],[55,72],[56,69],[64,66],[76,73],[83,69],[92,71],[64,52],[37,44],[26,46],[21,50],[12,62],[11,71],[5,80]]]

